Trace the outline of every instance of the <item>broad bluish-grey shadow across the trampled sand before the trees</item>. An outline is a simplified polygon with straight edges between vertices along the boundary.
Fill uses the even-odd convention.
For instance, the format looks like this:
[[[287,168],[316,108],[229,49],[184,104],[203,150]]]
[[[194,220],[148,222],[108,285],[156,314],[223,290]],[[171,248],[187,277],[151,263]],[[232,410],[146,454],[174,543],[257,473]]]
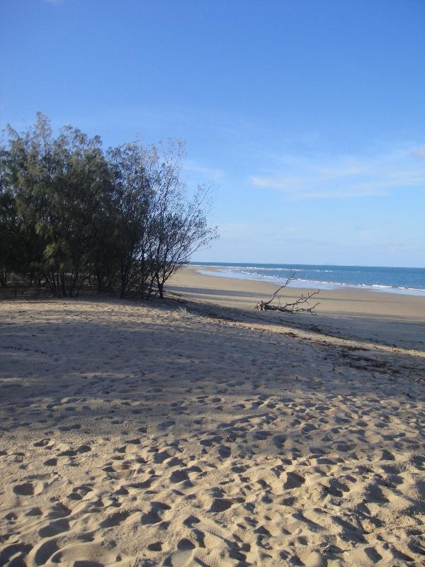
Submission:
[[[3,431],[125,437],[145,427],[158,439],[198,431],[204,440],[215,432],[214,447],[309,454],[353,427],[349,418],[335,422],[325,439],[320,408],[331,411],[336,398],[356,416],[380,402],[382,413],[400,404],[414,412],[423,398],[423,361],[405,352],[314,343],[273,331],[261,314],[185,305],[181,312],[175,301],[27,302],[0,329]],[[291,405],[293,426],[280,432]],[[305,412],[314,420],[305,422]],[[354,443],[370,449],[363,433],[353,428]],[[417,441],[397,443],[410,450]],[[225,458],[227,449],[217,451]]]

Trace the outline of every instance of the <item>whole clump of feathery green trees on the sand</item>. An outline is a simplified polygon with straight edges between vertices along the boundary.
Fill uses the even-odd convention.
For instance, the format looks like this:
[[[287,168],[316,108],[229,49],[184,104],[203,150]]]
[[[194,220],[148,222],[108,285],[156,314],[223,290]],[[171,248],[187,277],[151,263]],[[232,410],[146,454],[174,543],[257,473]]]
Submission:
[[[132,142],[103,150],[72,126],[55,137],[38,113],[0,146],[0,285],[18,278],[56,297],[81,288],[150,299],[217,237],[208,189],[187,196],[184,147]],[[13,277],[11,277],[13,274]]]

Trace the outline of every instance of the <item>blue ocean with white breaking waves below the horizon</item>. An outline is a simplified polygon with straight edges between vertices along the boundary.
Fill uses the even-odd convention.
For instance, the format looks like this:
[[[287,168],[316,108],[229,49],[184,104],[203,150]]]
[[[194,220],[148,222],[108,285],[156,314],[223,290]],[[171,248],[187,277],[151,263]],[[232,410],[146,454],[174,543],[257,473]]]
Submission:
[[[332,266],[319,264],[231,264],[227,262],[190,262],[200,273],[281,285],[295,272],[290,287],[338,289],[361,288],[410,296],[425,296],[425,268],[380,266]],[[215,267],[216,271],[203,270]]]

